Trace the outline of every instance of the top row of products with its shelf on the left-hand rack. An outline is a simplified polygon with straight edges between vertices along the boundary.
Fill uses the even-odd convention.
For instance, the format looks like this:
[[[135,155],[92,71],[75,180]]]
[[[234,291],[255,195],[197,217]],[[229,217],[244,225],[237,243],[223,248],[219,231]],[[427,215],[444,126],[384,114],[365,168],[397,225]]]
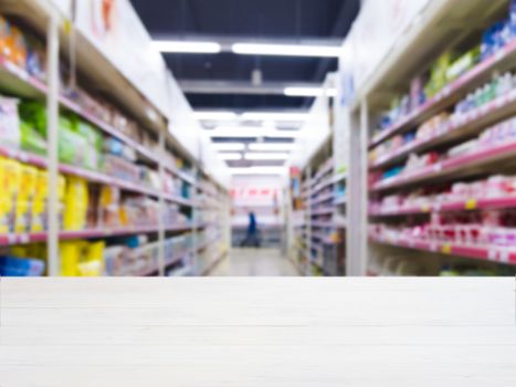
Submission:
[[[45,72],[44,44],[30,32],[21,31],[0,15],[2,30],[9,31],[8,36],[2,36],[0,52],[0,87],[3,92],[29,101],[44,101],[49,94]],[[8,39],[9,35],[18,39]],[[66,74],[61,74],[64,79]],[[61,82],[64,85],[64,82]],[[59,102],[63,112],[75,114],[85,122],[101,129],[106,135],[120,142],[123,148],[128,148],[136,159],[143,163],[159,165],[182,179],[189,185],[197,185],[193,169],[185,168],[185,161],[171,153],[159,148],[159,140],[155,133],[144,130],[139,125],[128,119],[116,107],[108,104],[102,97],[93,97],[84,90],[62,87]],[[60,123],[61,124],[61,123]],[[42,125],[44,126],[44,124]],[[2,137],[7,137],[3,136]],[[124,151],[124,150],[122,150]],[[198,186],[201,189],[201,186]]]

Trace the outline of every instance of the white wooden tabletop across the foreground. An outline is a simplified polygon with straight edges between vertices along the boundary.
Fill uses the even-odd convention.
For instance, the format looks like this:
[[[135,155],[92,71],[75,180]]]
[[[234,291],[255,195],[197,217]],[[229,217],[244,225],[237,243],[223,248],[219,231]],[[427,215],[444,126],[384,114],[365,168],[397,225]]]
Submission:
[[[1,387],[516,386],[514,279],[3,279]]]

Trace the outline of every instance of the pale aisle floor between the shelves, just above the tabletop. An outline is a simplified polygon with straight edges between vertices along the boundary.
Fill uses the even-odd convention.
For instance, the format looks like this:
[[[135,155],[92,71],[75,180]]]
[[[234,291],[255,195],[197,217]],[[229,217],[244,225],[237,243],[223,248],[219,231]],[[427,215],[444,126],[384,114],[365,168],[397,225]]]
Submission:
[[[232,249],[212,276],[293,276],[298,275],[277,249]]]

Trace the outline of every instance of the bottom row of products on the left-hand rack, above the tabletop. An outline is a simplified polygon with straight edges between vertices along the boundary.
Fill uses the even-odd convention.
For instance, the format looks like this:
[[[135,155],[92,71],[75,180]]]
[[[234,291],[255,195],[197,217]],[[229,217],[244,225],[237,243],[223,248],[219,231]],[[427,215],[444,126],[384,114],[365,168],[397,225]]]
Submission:
[[[60,275],[148,276],[159,273],[162,248],[167,275],[200,275],[222,251],[221,236],[213,231],[182,233],[165,240],[162,247],[148,236],[115,237],[99,241],[62,241]],[[41,276],[46,273],[46,245],[32,243],[0,250],[0,275]],[[38,258],[38,259],[34,259]]]

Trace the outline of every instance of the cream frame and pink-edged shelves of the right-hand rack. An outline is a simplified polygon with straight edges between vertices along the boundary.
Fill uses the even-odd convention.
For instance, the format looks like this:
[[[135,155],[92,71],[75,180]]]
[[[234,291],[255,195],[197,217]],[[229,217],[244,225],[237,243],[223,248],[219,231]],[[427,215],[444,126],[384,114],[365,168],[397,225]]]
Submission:
[[[410,265],[424,265],[430,262],[434,274],[440,273],[439,270],[433,271],[435,268],[449,264],[453,266],[457,262],[477,265],[475,268],[485,268],[485,262],[491,262],[489,268],[499,266],[502,263],[504,268],[501,270],[510,269],[508,265],[516,263],[510,248],[434,242],[427,237],[407,238],[401,231],[398,234],[394,231],[403,224],[409,228],[422,224],[421,232],[425,232],[424,224],[436,222],[443,216],[445,219],[474,217],[476,212],[514,208],[512,196],[463,196],[457,200],[454,199],[459,197],[455,195],[450,196],[451,199],[447,200],[446,192],[450,192],[455,184],[485,181],[493,175],[512,174],[515,170],[514,140],[499,142],[488,147],[472,146],[457,154],[449,155],[447,151],[477,138],[484,129],[516,114],[515,87],[491,101],[483,101],[475,108],[470,107],[467,113],[460,114],[459,109],[455,109],[459,102],[491,83],[495,75],[507,72],[514,74],[516,40],[472,65],[423,104],[415,108],[412,105],[409,114],[401,116],[389,127],[380,132],[375,129],[378,118],[389,111],[392,100],[400,96],[402,91],[409,97],[417,95],[414,90],[411,90],[411,86],[418,87],[417,83],[411,81],[418,77],[425,82],[424,76],[440,55],[457,49],[460,52],[472,49],[481,41],[480,31],[485,31],[496,21],[506,20],[509,1],[487,4],[482,0],[435,0],[415,1],[413,6],[417,11],[407,20],[400,21],[400,24],[404,23],[402,29],[391,31],[391,35],[381,43],[372,42],[371,38],[371,44],[378,44],[377,49],[383,52],[385,56],[378,57],[367,79],[357,82],[358,86],[352,95],[348,95],[349,103],[340,106],[338,112],[338,115],[344,117],[340,123],[344,123],[349,132],[348,182],[351,192],[347,197],[350,228],[347,233],[348,273],[366,275],[368,272],[378,272],[371,270],[371,263],[375,268],[380,260],[392,261],[394,258],[399,259],[399,255]],[[386,10],[388,8],[389,6],[386,6]],[[372,19],[379,18],[379,14],[367,13],[365,10],[361,17],[356,29],[364,32],[366,25],[375,24]],[[372,35],[375,33],[371,32]],[[350,38],[350,43],[354,43],[354,39],[356,36]],[[364,51],[362,46],[356,44],[352,50]],[[360,56],[360,53],[356,56]],[[358,70],[355,66],[356,63],[350,59],[343,57],[340,76],[356,79]],[[346,91],[341,91],[344,92]],[[422,130],[417,129],[438,114],[441,124],[433,127],[432,134],[420,136]],[[394,137],[396,142],[380,147]],[[401,139],[409,142],[398,143]],[[429,151],[433,151],[439,161],[429,163],[422,168],[413,163],[411,168],[403,170],[406,161],[418,160],[414,156]],[[398,175],[381,177],[394,174]],[[424,198],[428,200],[420,200]],[[392,205],[403,201],[408,205]],[[376,230],[377,228],[371,226],[377,223],[393,227],[390,238],[380,238],[368,232],[368,229]],[[406,254],[403,249],[410,249],[412,252]],[[421,252],[421,257],[418,252]]]

